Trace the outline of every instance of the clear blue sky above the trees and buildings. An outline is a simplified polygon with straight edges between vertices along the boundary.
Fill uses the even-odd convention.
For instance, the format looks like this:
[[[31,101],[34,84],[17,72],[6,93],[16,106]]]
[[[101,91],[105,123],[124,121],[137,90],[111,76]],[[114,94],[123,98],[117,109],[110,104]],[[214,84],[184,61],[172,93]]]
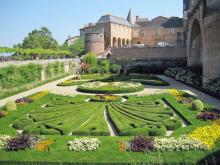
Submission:
[[[46,26],[62,44],[68,35],[101,15],[182,17],[182,0],[0,0],[0,46],[22,42],[33,29]]]

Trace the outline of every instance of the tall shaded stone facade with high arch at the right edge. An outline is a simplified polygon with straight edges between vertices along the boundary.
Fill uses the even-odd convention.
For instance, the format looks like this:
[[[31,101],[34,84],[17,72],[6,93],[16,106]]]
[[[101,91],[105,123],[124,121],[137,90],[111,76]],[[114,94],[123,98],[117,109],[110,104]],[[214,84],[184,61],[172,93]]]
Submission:
[[[201,68],[204,82],[220,77],[220,1],[183,3],[188,66]]]

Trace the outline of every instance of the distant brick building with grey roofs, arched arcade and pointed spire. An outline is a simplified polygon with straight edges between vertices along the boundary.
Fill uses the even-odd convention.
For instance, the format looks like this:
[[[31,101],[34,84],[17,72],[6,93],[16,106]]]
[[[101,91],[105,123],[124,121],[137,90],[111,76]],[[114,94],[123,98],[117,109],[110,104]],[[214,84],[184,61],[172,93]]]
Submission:
[[[134,18],[131,10],[127,19],[110,14],[103,15],[97,23],[89,23],[80,29],[81,37],[85,38],[86,33],[102,33],[105,49],[132,44],[156,46],[159,42],[181,46],[184,39],[182,18]]]

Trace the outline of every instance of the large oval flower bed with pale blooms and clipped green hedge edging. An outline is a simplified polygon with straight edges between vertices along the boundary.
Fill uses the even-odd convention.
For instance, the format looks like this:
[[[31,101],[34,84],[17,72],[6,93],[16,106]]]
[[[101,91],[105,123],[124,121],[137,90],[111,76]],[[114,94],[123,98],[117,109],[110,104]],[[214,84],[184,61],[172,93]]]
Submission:
[[[133,93],[144,90],[144,86],[135,82],[89,82],[78,86],[80,92],[86,93]]]

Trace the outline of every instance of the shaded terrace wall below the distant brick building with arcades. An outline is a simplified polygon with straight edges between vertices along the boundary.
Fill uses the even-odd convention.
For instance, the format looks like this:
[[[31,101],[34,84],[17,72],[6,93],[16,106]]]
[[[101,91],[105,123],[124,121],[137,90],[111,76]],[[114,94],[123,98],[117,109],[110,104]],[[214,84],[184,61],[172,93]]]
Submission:
[[[187,65],[185,47],[114,48],[110,60],[124,70],[160,73],[169,67]]]

